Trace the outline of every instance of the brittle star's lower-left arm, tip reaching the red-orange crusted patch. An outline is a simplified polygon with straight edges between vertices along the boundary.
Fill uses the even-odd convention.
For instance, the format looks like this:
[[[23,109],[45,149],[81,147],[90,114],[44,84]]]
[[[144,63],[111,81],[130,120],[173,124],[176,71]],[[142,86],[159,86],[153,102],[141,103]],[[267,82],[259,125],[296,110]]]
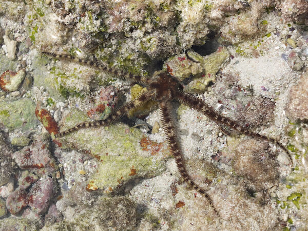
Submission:
[[[69,128],[65,131],[61,131],[61,132],[55,134],[55,138],[63,137],[65,134],[71,133],[71,132],[79,130],[81,128],[100,127],[100,126],[111,125],[114,122],[119,121],[125,115],[128,115],[131,110],[134,110],[137,107],[141,107],[145,103],[147,103],[148,99],[150,99],[150,97],[151,97],[151,94],[153,94],[153,92],[147,91],[147,92],[139,95],[139,97],[137,97],[137,99],[129,101],[128,103],[126,103],[122,107],[119,107],[118,110],[115,110],[114,112],[110,113],[109,117],[107,117],[105,120],[79,123],[72,128]]]

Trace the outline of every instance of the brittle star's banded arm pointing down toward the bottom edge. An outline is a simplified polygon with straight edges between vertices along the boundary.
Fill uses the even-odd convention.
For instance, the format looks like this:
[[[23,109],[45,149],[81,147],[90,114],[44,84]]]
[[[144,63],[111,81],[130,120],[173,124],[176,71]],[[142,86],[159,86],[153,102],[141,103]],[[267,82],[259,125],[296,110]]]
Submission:
[[[183,156],[180,150],[180,145],[178,142],[177,133],[176,133],[176,129],[174,126],[174,121],[172,120],[172,117],[171,117],[172,113],[170,110],[171,108],[170,101],[161,102],[159,104],[159,107],[160,107],[159,108],[160,117],[161,117],[161,121],[163,124],[163,130],[166,136],[167,144],[170,149],[170,152],[172,153],[172,156],[174,156],[176,160],[176,164],[180,171],[181,177],[189,186],[191,186],[199,194],[204,196],[208,200],[211,207],[213,207],[215,213],[219,215],[216,208],[214,207],[213,200],[210,198],[206,190],[201,188],[198,184],[196,184],[195,181],[192,180],[192,178],[188,175],[188,172],[185,167],[185,161],[183,159]]]

